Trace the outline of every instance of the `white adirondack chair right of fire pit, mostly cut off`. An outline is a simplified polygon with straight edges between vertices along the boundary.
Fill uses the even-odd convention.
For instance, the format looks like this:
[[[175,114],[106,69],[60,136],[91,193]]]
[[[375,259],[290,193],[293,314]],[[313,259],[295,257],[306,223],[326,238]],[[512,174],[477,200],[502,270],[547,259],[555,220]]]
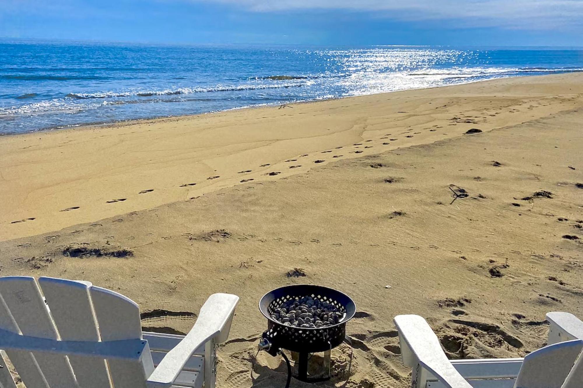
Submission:
[[[449,360],[425,319],[398,315],[394,322],[413,388],[583,387],[583,322],[565,312],[546,317],[549,345],[525,358],[498,359]]]

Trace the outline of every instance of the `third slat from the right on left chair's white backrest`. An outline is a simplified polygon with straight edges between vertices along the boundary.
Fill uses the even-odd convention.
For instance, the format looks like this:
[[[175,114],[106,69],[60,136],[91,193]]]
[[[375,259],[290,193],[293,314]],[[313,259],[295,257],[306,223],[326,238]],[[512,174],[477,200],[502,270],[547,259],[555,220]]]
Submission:
[[[20,332],[26,336],[57,339],[57,329],[52,322],[50,313],[44,303],[38,285],[33,277],[7,276],[0,278],[0,294],[8,307]],[[68,358],[62,355],[32,353],[36,364],[46,383],[38,382],[40,387],[78,387]],[[12,359],[12,355],[8,355]],[[18,357],[17,357],[18,358]],[[15,363],[31,362],[31,359],[19,360]],[[19,365],[16,365],[19,368]],[[34,368],[19,370],[25,385],[27,380],[38,380]],[[31,372],[30,378],[26,376]],[[32,382],[31,382],[32,383]],[[36,388],[37,385],[31,385]]]

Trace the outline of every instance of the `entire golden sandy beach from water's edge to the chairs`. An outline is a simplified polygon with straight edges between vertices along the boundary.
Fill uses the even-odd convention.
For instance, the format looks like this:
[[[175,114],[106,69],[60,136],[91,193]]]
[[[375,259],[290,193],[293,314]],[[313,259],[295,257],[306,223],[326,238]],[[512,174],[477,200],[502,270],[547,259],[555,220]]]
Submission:
[[[583,317],[583,75],[292,106],[0,138],[2,275],[92,281],[160,309],[143,326],[167,331],[213,292],[240,295],[227,388],[285,384],[279,358],[255,358],[258,299],[285,284],[357,304],[352,372],[342,345],[330,387],[410,384],[400,313],[452,358],[520,357],[545,343],[546,312]]]

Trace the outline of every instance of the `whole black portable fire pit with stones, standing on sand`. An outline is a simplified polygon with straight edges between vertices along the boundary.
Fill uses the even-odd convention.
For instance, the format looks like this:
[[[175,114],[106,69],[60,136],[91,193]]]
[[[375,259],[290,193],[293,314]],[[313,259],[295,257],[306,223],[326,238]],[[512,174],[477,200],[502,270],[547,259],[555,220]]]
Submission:
[[[282,354],[289,376],[291,366],[281,350],[291,351],[297,366],[293,376],[298,380],[330,379],[331,350],[345,340],[350,344],[346,322],[354,316],[356,305],[348,295],[321,285],[286,285],[265,294],[259,301],[259,310],[267,318],[268,327],[259,343],[261,350],[272,356]],[[313,373],[308,375],[308,362],[318,352],[324,352],[328,374],[314,378]]]

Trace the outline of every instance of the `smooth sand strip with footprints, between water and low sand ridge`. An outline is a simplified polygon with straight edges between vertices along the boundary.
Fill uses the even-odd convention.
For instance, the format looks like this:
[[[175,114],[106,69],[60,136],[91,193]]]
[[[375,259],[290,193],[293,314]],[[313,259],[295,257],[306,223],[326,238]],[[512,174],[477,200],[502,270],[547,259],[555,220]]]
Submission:
[[[581,73],[504,77],[0,137],[0,241],[269,184],[583,106]]]

